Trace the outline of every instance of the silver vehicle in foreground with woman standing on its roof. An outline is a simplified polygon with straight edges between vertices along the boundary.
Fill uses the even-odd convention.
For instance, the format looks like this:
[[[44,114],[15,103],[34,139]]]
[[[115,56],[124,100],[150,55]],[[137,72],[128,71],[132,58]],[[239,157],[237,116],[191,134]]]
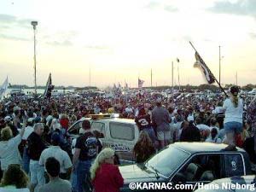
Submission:
[[[215,143],[170,144],[143,164],[119,166],[125,179],[120,191],[148,191],[131,189],[131,183],[189,183],[194,188],[198,182],[252,174],[247,152],[241,148],[227,151],[226,147]]]

